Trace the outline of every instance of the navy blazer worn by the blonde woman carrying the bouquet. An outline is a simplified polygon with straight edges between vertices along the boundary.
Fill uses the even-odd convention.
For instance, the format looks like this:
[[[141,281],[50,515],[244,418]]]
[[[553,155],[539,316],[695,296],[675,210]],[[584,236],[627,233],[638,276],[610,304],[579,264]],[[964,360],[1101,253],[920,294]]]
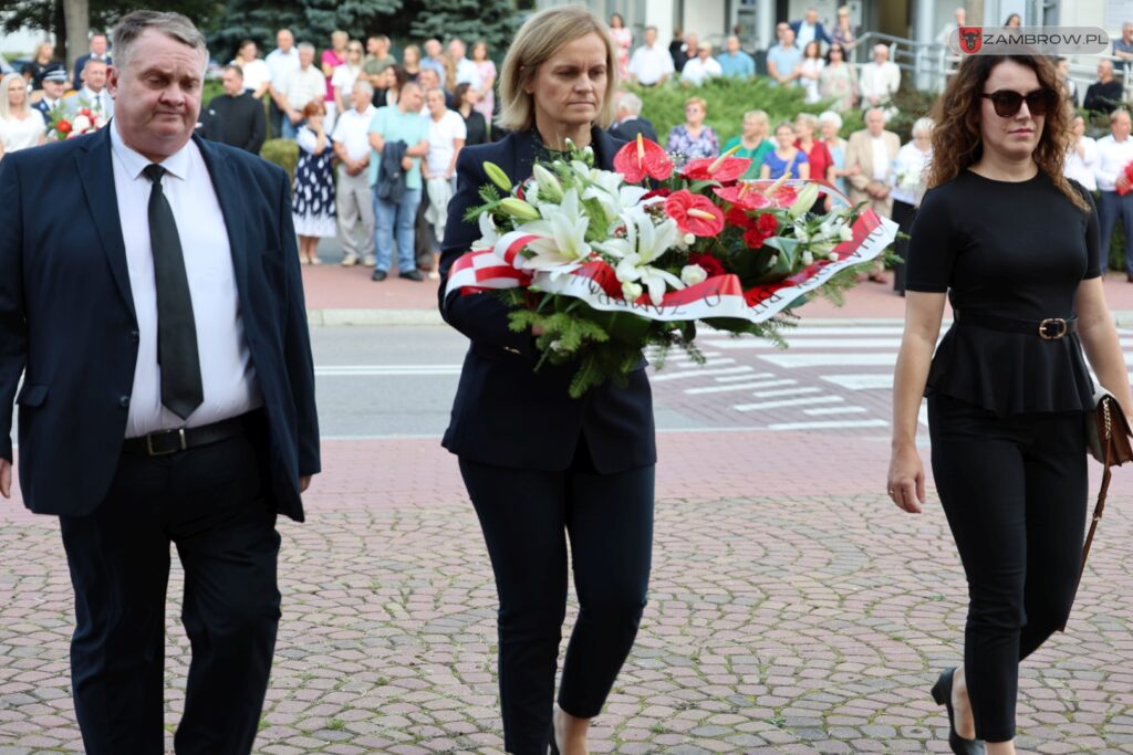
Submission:
[[[593,129],[595,164],[611,169],[623,144]],[[471,340],[460,374],[452,419],[443,445],[474,462],[512,469],[561,471],[570,466],[579,437],[585,436],[596,471],[622,472],[657,461],[653,397],[642,368],[629,386],[611,383],[582,398],[568,395],[574,364],[534,371],[538,360],[530,334],[508,329],[509,308],[493,293],[445,297],[449,268],[479,237],[465,212],[480,204],[477,192],[488,182],[489,161],[518,182],[531,175],[531,131],[509,134],[500,141],[465,147],[457,160],[457,194],[441,248],[441,315]]]

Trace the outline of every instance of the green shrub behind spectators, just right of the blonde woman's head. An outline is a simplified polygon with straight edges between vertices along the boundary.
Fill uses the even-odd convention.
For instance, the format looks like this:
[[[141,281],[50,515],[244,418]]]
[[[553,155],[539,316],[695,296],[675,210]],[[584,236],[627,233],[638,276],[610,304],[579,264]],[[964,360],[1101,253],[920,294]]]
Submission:
[[[794,120],[799,113],[817,115],[824,110],[829,110],[828,102],[811,105],[803,102],[802,88],[775,87],[766,77],[753,81],[714,78],[704,86],[682,86],[670,81],[665,86],[631,85],[628,88],[641,97],[644,103],[641,114],[653,122],[663,146],[668,139],[670,129],[684,122],[684,101],[689,97],[702,97],[708,103],[708,117],[705,122],[716,130],[721,147],[733,136],[740,135],[743,113],[749,110],[767,111],[772,129],[781,120]],[[842,119],[843,137],[863,128],[861,113],[857,110],[842,113]]]

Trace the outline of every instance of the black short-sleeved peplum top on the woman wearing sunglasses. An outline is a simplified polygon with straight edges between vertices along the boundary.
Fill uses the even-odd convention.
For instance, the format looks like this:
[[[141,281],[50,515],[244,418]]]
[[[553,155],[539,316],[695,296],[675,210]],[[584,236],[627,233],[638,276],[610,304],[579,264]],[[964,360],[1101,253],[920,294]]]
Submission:
[[[1084,213],[1039,172],[1021,182],[964,171],[925,195],[910,231],[909,291],[948,292],[954,310],[1039,321],[1074,314],[1080,281],[1098,277],[1093,199]],[[953,327],[937,346],[926,395],[940,393],[1000,417],[1087,411],[1093,384],[1076,333],[1043,340]]]

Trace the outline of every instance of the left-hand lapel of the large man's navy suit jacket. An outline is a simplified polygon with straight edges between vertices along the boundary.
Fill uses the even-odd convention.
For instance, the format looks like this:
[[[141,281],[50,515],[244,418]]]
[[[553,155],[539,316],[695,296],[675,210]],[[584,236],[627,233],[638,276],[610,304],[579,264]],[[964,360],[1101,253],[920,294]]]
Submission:
[[[114,165],[110,149],[110,129],[107,126],[94,138],[88,139],[75,155],[75,168],[83,183],[86,204],[99,232],[99,240],[110,263],[110,272],[118,285],[118,292],[130,310],[134,319],[134,293],[130,290],[130,274],[126,265],[126,243],[122,241],[121,220],[118,216],[118,195],[114,191]]]

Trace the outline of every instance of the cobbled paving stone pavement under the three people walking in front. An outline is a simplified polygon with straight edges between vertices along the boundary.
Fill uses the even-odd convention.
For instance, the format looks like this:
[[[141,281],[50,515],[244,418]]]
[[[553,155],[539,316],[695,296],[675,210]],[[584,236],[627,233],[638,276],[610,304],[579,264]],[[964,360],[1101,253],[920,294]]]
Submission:
[[[903,515],[877,469],[855,477],[846,461],[799,475],[825,463],[819,436],[662,446],[649,604],[593,752],[947,752],[928,689],[959,658],[964,584],[939,507]],[[283,621],[256,752],[499,753],[495,593],[452,457],[434,440],[332,441],[325,455],[308,522],[280,524]],[[725,466],[736,481],[751,470],[747,484],[709,484]],[[1023,667],[1021,752],[1133,752],[1130,505],[1118,487],[1067,634]],[[0,523],[0,755],[80,750],[56,521],[6,503]],[[170,724],[188,657],[181,584],[174,573]]]

